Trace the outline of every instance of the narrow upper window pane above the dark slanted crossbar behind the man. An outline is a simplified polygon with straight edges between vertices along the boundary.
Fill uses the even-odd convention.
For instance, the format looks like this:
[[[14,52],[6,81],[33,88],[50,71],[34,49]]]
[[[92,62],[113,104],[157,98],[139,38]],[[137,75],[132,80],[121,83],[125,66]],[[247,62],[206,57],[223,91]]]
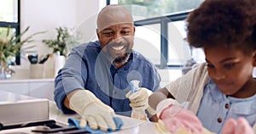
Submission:
[[[202,0],[118,0],[120,5],[131,5],[132,14],[144,19],[191,10],[201,2]],[[117,1],[111,0],[111,3]]]

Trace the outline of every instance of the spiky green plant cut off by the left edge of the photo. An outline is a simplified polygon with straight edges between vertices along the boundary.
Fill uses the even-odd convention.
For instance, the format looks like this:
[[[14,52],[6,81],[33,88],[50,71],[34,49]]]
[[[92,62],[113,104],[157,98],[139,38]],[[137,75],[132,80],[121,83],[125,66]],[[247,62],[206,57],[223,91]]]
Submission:
[[[21,47],[25,43],[33,42],[32,37],[43,33],[37,32],[25,39],[20,41],[21,37],[29,30],[29,26],[26,27],[25,31],[22,31],[20,35],[15,36],[14,33],[10,33],[10,27],[7,30],[5,36],[0,36],[0,79],[7,79],[7,75],[12,75],[14,70],[9,69],[9,62],[15,58],[16,55],[20,54]],[[31,46],[34,47],[34,46]],[[25,47],[22,50],[25,51],[31,47]]]

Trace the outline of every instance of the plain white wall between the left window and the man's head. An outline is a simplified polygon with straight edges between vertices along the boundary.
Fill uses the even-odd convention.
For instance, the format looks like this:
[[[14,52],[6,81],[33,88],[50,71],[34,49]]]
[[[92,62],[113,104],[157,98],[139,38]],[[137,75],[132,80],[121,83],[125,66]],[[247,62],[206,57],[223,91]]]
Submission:
[[[42,40],[55,38],[55,28],[67,26],[76,28],[90,16],[97,14],[101,0],[22,0],[20,1],[20,31],[24,31],[27,26],[30,30],[26,36],[38,31],[47,31],[44,34],[34,36],[35,42],[29,45],[37,45],[32,50],[39,55],[51,53]],[[95,23],[95,22],[94,22]],[[96,29],[96,25],[90,25]],[[83,30],[81,30],[83,31]],[[27,66],[28,61],[21,59],[21,65]]]

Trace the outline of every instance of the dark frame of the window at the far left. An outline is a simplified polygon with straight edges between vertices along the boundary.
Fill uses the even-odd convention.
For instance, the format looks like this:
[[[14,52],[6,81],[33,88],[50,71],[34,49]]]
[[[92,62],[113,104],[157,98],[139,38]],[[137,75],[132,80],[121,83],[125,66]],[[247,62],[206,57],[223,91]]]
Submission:
[[[17,22],[6,22],[6,21],[0,21],[0,27],[3,28],[14,28],[15,29],[15,36],[20,35],[20,0],[17,0]],[[19,41],[20,42],[20,41]],[[17,65],[20,65],[20,55],[16,55],[16,61],[15,63]]]

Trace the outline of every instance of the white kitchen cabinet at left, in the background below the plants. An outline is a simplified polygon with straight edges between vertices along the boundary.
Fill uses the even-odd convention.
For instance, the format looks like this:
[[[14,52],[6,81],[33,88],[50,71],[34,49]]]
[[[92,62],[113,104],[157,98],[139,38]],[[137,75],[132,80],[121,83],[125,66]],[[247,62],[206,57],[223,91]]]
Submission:
[[[54,100],[54,79],[4,80],[0,81],[0,91]]]

